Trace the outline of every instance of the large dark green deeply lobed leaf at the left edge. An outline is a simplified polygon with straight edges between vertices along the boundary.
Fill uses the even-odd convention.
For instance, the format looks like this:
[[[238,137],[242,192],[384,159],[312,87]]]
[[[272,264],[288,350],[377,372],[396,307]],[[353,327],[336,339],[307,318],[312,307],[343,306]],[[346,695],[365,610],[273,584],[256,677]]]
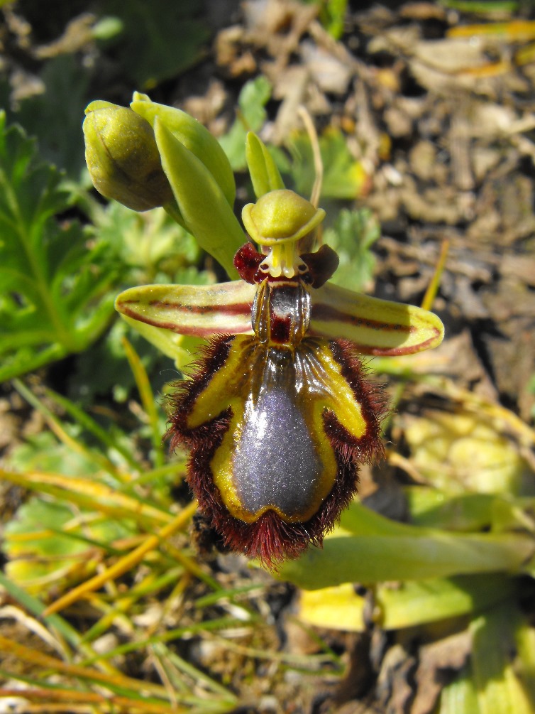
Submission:
[[[75,221],[61,174],[34,141],[0,114],[0,380],[85,349],[113,314],[118,266],[91,247]]]

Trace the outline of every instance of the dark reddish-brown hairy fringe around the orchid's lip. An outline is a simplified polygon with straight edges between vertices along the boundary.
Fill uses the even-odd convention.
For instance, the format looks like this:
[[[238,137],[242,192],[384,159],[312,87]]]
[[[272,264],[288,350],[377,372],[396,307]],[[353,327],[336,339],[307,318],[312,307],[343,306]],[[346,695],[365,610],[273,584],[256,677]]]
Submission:
[[[267,568],[276,570],[282,560],[296,558],[310,544],[322,545],[325,534],[332,530],[357,492],[360,463],[383,456],[380,422],[386,413],[386,399],[382,388],[367,380],[353,344],[345,340],[331,341],[332,354],[361,405],[367,431],[357,439],[347,432],[334,413],[325,413],[325,433],[335,452],[338,471],[317,513],[305,523],[286,523],[275,511],[266,511],[254,523],[245,523],[229,513],[210,471],[210,461],[230,424],[230,408],[198,428],[191,430],[186,426],[195,399],[225,363],[232,339],[222,337],[211,341],[198,360],[193,377],[178,383],[170,399],[173,413],[168,436],[171,448],[190,448],[188,483],[198,499],[201,513],[220,534],[225,547],[259,558]]]

